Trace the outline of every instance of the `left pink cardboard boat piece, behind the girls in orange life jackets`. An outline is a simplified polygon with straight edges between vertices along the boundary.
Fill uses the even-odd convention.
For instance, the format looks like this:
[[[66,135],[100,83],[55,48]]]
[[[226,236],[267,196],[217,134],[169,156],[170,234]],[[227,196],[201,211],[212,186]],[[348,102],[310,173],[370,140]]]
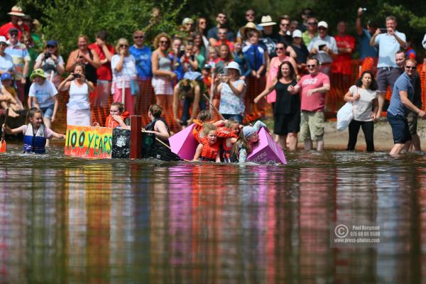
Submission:
[[[192,134],[195,124],[191,124],[186,129],[175,133],[169,138],[172,152],[178,155],[182,160],[192,160],[197,150],[198,141]]]

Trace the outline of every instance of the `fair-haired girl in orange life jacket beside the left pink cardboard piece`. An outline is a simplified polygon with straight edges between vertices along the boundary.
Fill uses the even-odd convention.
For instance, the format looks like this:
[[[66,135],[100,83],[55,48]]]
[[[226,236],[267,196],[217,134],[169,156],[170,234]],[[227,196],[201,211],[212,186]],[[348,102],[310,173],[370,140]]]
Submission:
[[[217,140],[217,127],[205,123],[202,129],[204,137],[195,151],[195,161],[206,161],[220,163],[220,142]]]

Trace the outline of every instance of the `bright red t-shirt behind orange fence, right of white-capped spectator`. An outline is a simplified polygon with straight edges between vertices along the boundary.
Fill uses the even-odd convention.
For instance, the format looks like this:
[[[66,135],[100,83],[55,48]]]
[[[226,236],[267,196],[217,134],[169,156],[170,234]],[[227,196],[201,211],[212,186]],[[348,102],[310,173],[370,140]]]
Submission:
[[[334,39],[336,40],[337,48],[351,48],[352,53],[355,50],[355,38],[351,35],[335,35]],[[351,60],[352,55],[351,53],[339,53],[336,55],[336,58],[334,58],[333,65],[332,65],[332,72],[333,73],[342,73],[345,75],[351,75]],[[358,72],[358,71],[357,71]]]

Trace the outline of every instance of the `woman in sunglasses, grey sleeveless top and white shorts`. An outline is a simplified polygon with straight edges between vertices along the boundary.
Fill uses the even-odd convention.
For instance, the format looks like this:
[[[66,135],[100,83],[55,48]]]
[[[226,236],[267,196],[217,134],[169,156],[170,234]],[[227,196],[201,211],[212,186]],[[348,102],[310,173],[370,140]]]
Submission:
[[[155,99],[160,107],[169,109],[173,103],[172,82],[176,79],[173,72],[172,60],[168,57],[168,49],[172,45],[172,40],[165,33],[160,33],[154,39],[154,47],[151,57],[153,67],[153,88]]]

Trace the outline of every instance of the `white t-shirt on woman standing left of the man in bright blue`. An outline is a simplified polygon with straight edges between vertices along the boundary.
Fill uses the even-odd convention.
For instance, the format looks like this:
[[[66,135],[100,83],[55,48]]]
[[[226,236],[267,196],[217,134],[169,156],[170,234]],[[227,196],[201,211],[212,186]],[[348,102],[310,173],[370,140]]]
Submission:
[[[112,82],[114,82],[118,88],[121,88],[121,85],[124,80],[124,85],[126,88],[130,87],[130,80],[136,78],[138,75],[138,70],[136,70],[136,59],[133,55],[125,56],[123,62],[123,68],[120,72],[115,70],[116,65],[120,61],[120,55],[116,54],[111,58],[111,70],[112,70]],[[114,91],[113,91],[114,92]]]

